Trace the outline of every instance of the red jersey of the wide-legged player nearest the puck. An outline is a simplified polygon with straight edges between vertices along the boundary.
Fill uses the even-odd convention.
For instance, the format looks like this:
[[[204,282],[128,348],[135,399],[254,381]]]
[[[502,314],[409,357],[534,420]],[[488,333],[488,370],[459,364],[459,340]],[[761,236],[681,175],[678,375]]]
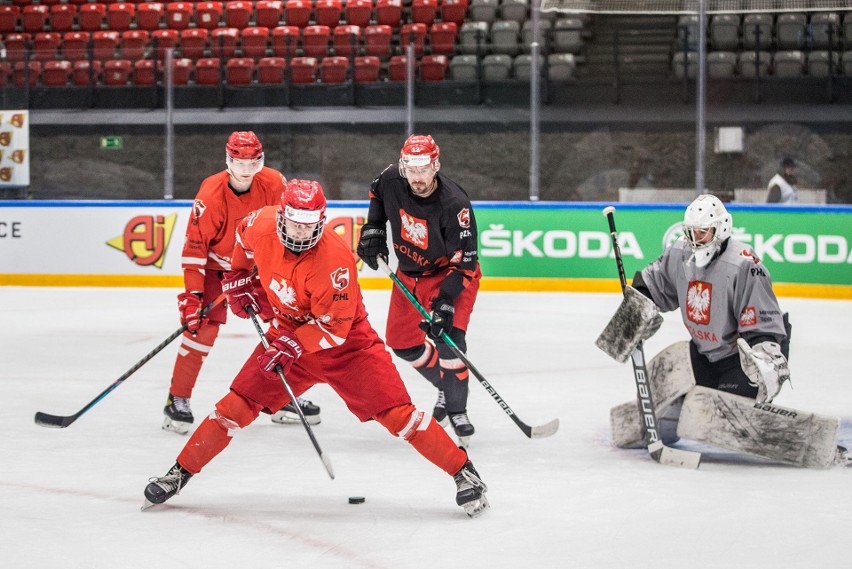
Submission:
[[[278,238],[277,211],[267,206],[240,222],[231,268],[257,266],[275,313],[273,327],[294,332],[306,353],[340,346],[367,318],[355,257],[330,230],[307,251],[286,249]]]

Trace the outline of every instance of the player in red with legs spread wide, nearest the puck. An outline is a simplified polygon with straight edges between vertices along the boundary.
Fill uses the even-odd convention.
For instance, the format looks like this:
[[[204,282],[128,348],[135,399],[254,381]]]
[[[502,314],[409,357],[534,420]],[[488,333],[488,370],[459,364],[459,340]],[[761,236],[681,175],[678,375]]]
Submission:
[[[351,250],[336,233],[323,232],[325,209],[319,183],[290,180],[278,207],[266,206],[240,222],[223,290],[238,316],[247,317],[251,307],[269,319],[269,347],[258,344],[176,464],[148,484],[146,507],[177,494],[261,412],[288,402],[279,370],[297,396],[327,383],[358,419],[377,421],[453,476],[456,503],[468,515],[488,507],[487,488],[467,452],[412,405],[367,321]],[[258,279],[252,278],[255,269]]]

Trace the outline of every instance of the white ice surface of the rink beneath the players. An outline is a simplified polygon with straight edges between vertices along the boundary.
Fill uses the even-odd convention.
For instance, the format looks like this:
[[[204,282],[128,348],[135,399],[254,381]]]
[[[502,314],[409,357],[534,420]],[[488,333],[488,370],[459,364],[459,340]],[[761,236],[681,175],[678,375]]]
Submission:
[[[179,326],[173,289],[0,288],[0,566],[9,569],[249,567],[673,568],[846,567],[852,469],[801,470],[704,451],[698,470],[612,446],[610,407],[635,396],[630,364],[594,346],[616,294],[481,293],[470,360],[530,425],[529,440],[471,377],[471,458],[491,509],[469,519],[450,477],[375,423],[360,424],[325,386],[314,427],[330,480],[301,425],[262,415],[183,492],[140,511],[148,478],[185,437],[162,431],[179,341],[66,429],[70,415]],[[366,291],[384,334],[388,291]],[[852,302],[782,298],[793,342],[776,403],[852,416],[847,359]],[[687,339],[667,314],[648,358]],[[231,317],[192,398],[196,423],[227,391],[257,335]],[[407,364],[414,403],[434,390]],[[852,446],[844,420],[841,442]],[[350,505],[349,496],[366,503]]]

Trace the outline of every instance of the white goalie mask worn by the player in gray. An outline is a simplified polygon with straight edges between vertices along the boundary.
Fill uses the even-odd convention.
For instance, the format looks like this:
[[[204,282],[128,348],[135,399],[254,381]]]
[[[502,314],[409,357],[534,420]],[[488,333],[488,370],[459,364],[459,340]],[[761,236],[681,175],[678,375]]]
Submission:
[[[702,194],[695,198],[683,216],[683,234],[692,248],[695,266],[707,266],[733,228],[731,214],[716,196]]]

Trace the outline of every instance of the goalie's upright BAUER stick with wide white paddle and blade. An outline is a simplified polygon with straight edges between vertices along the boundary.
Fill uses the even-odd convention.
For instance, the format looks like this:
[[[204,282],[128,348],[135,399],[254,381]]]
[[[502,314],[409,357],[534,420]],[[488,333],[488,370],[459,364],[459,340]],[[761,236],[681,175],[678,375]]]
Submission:
[[[605,207],[603,214],[609,222],[612,250],[615,253],[615,262],[618,265],[618,278],[621,281],[621,290],[624,291],[627,287],[627,278],[624,276],[624,263],[621,260],[618,234],[615,231],[615,208],[612,206]],[[645,442],[648,443],[648,452],[651,453],[651,458],[660,464],[698,468],[701,462],[700,452],[668,447],[660,439],[657,432],[659,421],[657,421],[657,413],[654,410],[654,399],[651,396],[651,383],[648,381],[648,372],[645,368],[645,350],[642,347],[642,342],[639,342],[630,358],[633,362],[633,379],[636,381],[636,392],[639,395],[639,412],[642,414],[642,422],[645,426]]]

